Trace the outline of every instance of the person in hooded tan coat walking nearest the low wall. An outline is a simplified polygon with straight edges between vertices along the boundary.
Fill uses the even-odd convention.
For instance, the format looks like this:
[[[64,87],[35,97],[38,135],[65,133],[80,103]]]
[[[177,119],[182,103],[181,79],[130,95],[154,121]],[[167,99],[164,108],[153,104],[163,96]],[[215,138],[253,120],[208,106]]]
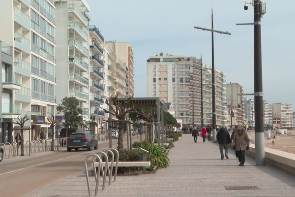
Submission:
[[[241,126],[236,128],[236,132],[233,138],[233,148],[237,151],[238,161],[240,166],[245,164],[245,150],[249,150],[249,137],[245,129]]]

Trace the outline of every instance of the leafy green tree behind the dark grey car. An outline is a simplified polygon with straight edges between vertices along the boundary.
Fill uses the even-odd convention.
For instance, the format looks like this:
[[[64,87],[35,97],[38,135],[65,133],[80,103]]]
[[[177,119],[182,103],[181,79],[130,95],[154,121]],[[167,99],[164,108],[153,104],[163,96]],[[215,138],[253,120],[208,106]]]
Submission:
[[[74,97],[65,97],[62,99],[61,104],[57,106],[58,112],[65,115],[65,128],[77,129],[83,121],[81,116],[83,110],[79,107],[79,100]]]

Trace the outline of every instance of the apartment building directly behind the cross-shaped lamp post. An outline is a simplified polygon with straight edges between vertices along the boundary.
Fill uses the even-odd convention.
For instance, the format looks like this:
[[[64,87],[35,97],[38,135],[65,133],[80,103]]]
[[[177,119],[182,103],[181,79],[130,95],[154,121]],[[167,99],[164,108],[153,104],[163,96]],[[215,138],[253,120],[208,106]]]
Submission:
[[[204,67],[204,66],[203,66]],[[205,66],[206,67],[206,66]],[[212,124],[212,71],[203,68],[204,124]],[[226,75],[215,69],[216,125],[227,126]]]

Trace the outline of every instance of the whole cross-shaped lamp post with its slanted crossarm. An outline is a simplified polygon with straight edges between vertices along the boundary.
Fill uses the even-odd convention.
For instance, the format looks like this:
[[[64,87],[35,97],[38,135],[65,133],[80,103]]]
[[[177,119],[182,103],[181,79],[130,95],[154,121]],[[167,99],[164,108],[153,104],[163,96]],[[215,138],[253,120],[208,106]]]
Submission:
[[[211,32],[211,45],[212,45],[212,140],[213,142],[216,141],[216,103],[215,103],[215,65],[214,65],[214,32],[220,34],[228,34],[231,35],[232,33],[229,32],[222,32],[213,29],[213,9],[211,9],[211,29],[202,28],[202,27],[194,27],[198,30],[209,31]]]

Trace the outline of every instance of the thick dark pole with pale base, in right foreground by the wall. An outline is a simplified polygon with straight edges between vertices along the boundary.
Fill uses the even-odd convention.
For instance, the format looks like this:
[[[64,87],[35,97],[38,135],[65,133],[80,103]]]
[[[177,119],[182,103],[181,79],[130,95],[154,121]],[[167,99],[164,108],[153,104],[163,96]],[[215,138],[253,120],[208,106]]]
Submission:
[[[265,165],[261,57],[261,11],[261,0],[254,0],[254,108],[256,165]]]

